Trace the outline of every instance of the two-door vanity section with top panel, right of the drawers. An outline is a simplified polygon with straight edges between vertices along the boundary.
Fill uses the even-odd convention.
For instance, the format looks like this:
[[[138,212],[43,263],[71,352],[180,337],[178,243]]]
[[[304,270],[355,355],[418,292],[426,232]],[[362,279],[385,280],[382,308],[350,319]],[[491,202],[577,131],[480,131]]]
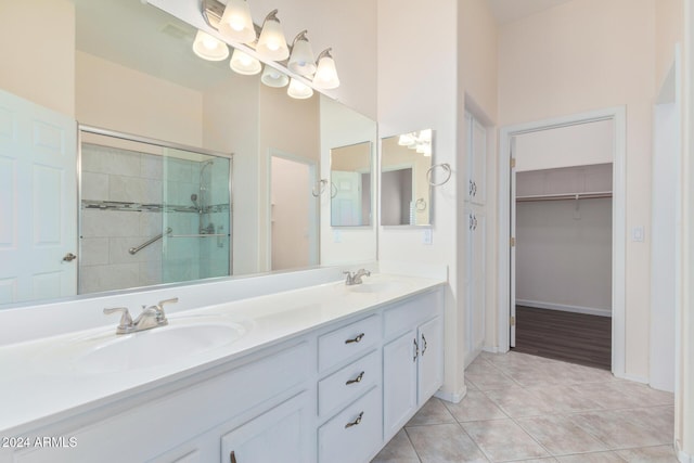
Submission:
[[[442,292],[384,312],[383,420],[388,441],[444,383]]]

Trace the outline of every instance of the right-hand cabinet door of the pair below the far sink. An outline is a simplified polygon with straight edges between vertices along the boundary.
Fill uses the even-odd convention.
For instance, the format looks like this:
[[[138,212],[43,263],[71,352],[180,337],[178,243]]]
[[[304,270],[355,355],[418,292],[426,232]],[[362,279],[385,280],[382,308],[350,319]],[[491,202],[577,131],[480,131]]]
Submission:
[[[417,403],[424,404],[444,384],[444,324],[441,318],[422,324],[417,332],[420,359],[417,369]]]

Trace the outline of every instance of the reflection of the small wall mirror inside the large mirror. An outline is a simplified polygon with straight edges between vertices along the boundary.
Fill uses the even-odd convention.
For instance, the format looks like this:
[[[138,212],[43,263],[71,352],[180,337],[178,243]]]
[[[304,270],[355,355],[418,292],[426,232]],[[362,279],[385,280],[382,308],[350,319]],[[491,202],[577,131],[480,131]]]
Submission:
[[[330,151],[331,226],[371,224],[372,146],[365,141]]]

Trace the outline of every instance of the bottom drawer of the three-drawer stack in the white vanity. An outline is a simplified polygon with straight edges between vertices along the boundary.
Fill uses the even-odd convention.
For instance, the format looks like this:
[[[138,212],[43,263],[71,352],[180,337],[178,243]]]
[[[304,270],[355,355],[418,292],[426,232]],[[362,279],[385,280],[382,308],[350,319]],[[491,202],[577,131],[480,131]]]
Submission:
[[[318,429],[318,461],[368,461],[381,447],[382,422],[381,388],[374,387]]]

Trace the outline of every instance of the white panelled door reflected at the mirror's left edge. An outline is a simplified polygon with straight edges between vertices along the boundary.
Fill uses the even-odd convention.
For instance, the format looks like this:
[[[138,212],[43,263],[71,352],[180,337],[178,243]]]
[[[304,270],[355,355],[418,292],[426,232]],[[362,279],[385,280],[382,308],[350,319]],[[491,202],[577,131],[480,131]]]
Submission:
[[[0,304],[77,293],[77,124],[0,91]]]

